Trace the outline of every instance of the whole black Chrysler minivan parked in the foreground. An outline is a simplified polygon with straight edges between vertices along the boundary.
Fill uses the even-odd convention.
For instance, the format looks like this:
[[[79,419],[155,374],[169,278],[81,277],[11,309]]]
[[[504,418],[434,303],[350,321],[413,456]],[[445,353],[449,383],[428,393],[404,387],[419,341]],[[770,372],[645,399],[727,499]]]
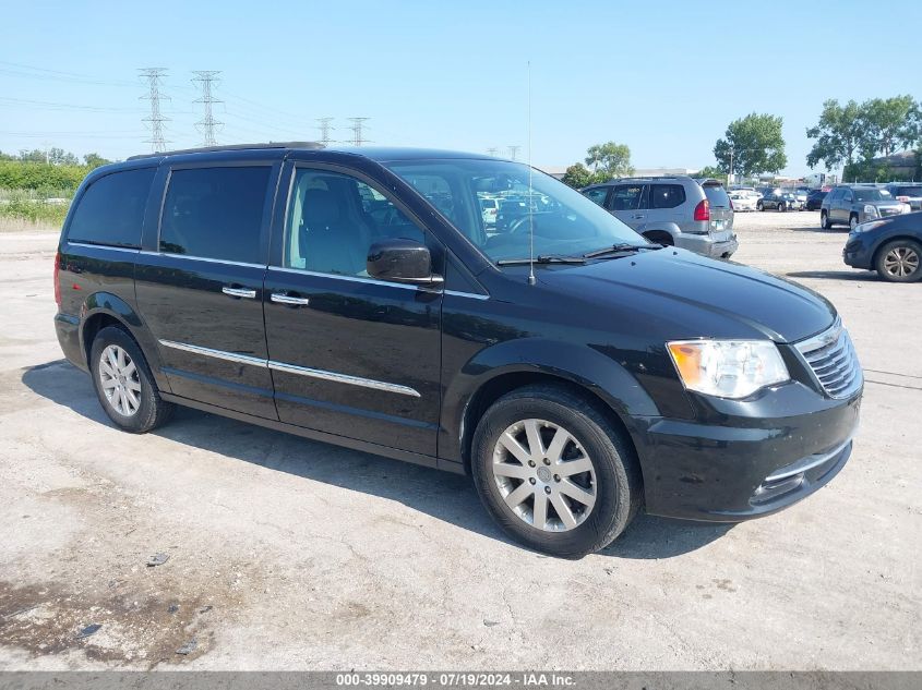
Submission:
[[[528,210],[489,227],[484,198]],[[506,533],[563,557],[642,507],[789,506],[858,424],[862,372],[823,298],[484,156],[137,156],[84,180],[55,273],[61,347],[121,428],[182,404],[469,472]]]

